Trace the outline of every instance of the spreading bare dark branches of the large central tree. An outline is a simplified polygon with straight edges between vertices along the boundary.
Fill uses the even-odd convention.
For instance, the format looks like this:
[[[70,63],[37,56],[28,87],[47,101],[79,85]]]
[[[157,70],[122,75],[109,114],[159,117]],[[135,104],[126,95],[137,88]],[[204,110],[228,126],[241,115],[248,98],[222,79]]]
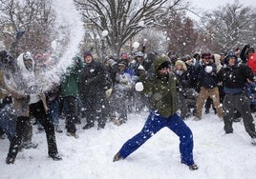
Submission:
[[[113,53],[146,27],[159,23],[169,11],[185,9],[184,0],[75,0],[86,27]],[[107,31],[108,35],[102,35]]]

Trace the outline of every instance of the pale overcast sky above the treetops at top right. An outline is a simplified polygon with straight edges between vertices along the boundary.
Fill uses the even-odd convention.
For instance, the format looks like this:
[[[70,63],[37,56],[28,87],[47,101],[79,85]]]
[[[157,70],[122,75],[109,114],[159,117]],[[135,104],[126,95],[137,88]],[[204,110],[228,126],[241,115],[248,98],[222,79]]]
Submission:
[[[191,6],[196,8],[196,10],[213,10],[220,6],[224,6],[226,3],[233,4],[234,2],[239,2],[245,6],[256,8],[256,0],[189,0]],[[192,18],[198,20],[198,17],[193,14],[188,14]]]

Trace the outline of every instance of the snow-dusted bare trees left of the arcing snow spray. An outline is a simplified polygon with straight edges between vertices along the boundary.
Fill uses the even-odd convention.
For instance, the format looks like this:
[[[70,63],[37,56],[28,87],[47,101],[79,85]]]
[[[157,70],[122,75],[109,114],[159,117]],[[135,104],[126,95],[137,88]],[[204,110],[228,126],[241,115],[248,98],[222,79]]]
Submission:
[[[0,36],[6,47],[17,38],[17,34],[24,31],[22,39],[15,50],[17,55],[21,51],[45,51],[51,47],[54,15],[52,0],[0,0]]]

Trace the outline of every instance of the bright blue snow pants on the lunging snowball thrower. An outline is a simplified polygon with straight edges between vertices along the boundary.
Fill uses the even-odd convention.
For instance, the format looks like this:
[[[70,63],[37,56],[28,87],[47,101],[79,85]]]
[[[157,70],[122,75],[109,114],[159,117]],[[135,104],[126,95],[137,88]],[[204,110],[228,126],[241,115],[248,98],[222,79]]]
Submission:
[[[150,111],[141,131],[129,139],[119,150],[121,157],[126,158],[136,149],[139,149],[153,134],[164,127],[171,129],[180,137],[181,163],[187,166],[193,165],[193,134],[191,129],[185,125],[178,114],[165,118],[154,110]]]

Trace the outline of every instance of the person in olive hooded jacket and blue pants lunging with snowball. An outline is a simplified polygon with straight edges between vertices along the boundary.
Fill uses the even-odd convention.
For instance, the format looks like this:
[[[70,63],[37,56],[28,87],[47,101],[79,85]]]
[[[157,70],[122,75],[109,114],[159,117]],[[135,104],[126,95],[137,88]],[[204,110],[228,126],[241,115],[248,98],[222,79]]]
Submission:
[[[191,170],[198,169],[193,160],[193,134],[177,114],[178,102],[175,75],[170,72],[171,63],[165,58],[158,58],[154,62],[155,76],[147,79],[140,77],[136,89],[151,92],[150,103],[152,109],[144,127],[133,138],[129,139],[114,156],[113,162],[125,159],[139,149],[153,134],[167,127],[180,137],[181,163]]]

